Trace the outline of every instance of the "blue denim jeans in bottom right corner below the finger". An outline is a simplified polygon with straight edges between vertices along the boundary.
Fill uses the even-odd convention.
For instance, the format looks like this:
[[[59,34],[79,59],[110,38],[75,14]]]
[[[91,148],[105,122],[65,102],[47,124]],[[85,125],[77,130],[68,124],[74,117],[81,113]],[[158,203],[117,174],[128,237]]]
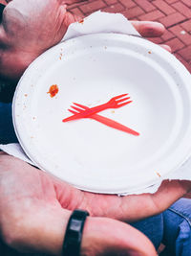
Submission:
[[[165,244],[161,256],[191,256],[191,199],[180,198],[162,214],[133,223],[155,245]]]

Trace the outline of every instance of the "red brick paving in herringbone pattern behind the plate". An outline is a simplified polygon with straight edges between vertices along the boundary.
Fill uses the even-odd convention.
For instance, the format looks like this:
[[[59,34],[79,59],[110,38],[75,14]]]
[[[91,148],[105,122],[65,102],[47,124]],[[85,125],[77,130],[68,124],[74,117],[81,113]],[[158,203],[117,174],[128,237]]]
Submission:
[[[86,0],[69,10],[81,16],[97,10],[120,12],[129,19],[161,22],[166,33],[151,40],[170,45],[191,72],[191,0]]]

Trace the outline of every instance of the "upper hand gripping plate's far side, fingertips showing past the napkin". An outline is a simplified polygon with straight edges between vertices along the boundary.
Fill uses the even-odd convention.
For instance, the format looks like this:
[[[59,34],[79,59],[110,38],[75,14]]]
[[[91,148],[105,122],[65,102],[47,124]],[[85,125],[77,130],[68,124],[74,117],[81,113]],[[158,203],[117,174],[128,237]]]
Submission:
[[[33,59],[57,44],[80,17],[67,11],[75,0],[12,0],[0,27],[0,76],[18,80]],[[157,22],[132,21],[142,36],[159,36]],[[168,46],[163,46],[169,50]]]

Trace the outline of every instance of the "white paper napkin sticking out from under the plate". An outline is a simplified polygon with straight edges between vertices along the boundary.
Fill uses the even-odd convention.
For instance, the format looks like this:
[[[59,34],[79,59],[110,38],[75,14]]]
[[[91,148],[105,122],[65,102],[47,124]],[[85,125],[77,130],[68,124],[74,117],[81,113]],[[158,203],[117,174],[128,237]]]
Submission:
[[[71,24],[62,40],[74,38],[79,35],[89,35],[96,33],[139,35],[136,29],[132,26],[131,22],[129,22],[122,14],[95,12],[86,17],[83,22],[76,22]],[[25,154],[18,143],[0,145],[0,150],[5,151],[33,165],[32,161]],[[140,189],[131,194],[138,195],[142,193],[155,193],[159,189],[159,185],[164,179],[191,180],[191,157],[186,162],[184,162],[184,164],[176,172],[159,178],[158,184],[148,188]],[[130,195],[130,193],[121,194],[118,196],[126,195]]]

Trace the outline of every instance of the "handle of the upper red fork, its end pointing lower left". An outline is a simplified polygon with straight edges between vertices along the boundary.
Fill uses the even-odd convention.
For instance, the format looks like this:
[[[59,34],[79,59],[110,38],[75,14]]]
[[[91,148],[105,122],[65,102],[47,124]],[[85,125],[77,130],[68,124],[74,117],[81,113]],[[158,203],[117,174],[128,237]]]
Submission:
[[[74,114],[73,116],[67,117],[67,118],[63,119],[62,122],[68,122],[68,121],[72,121],[72,120],[84,118],[84,117],[90,117],[91,115],[96,114],[97,112],[103,111],[108,108],[110,108],[109,103],[106,103],[103,105],[96,105],[94,107],[84,110],[83,112],[80,112],[78,114]]]

